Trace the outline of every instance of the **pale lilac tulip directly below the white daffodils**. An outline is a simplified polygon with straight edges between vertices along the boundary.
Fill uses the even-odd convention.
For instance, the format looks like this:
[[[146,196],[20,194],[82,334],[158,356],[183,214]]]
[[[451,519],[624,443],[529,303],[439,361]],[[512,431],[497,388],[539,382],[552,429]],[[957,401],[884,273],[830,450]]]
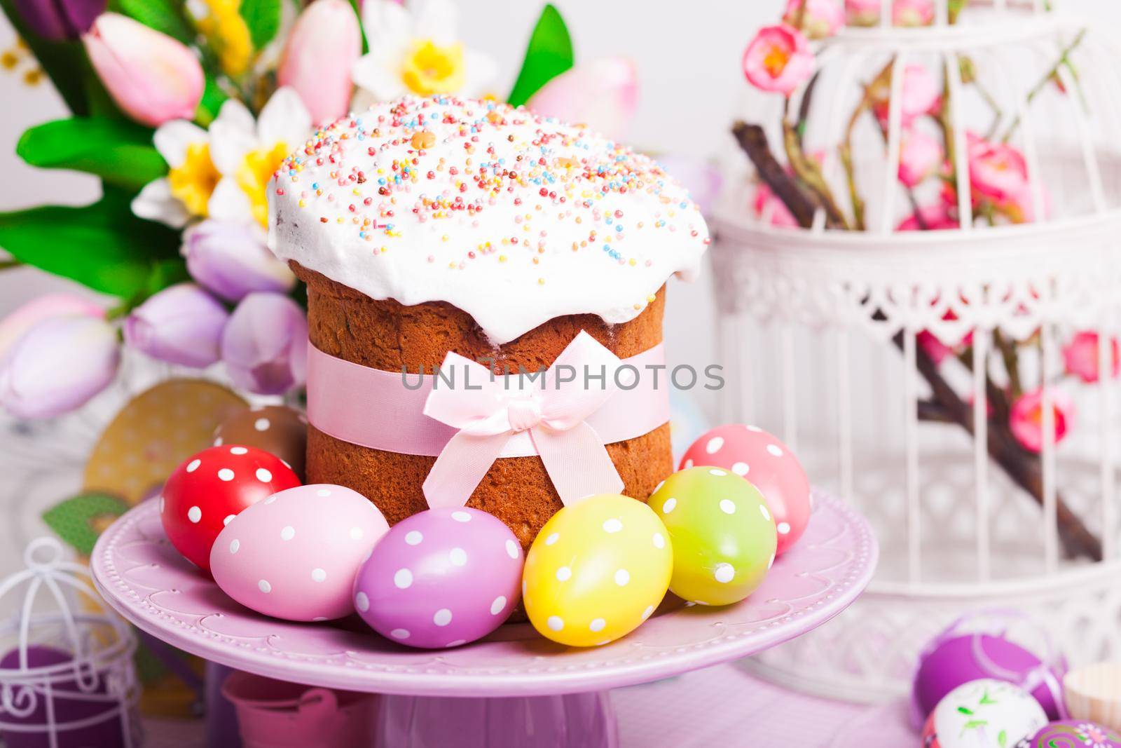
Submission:
[[[288,266],[244,223],[203,221],[187,231],[183,255],[192,278],[231,302],[256,290],[284,293],[296,283]]]

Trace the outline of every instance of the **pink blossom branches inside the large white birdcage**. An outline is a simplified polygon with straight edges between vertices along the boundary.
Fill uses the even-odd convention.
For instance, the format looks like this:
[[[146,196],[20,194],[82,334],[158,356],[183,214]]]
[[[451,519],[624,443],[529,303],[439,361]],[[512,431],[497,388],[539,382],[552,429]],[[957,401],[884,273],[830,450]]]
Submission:
[[[1011,15],[1013,3],[992,4],[997,12],[1015,18],[1003,22],[1025,22]],[[1076,62],[1086,31],[1048,31],[1058,44],[1054,52],[1040,53],[1046,55],[1041,74],[1027,68],[1018,71],[1019,76],[1003,70],[986,75],[993,71],[986,71],[985,63],[993,65],[997,56],[991,47],[978,41],[974,46],[983,52],[975,57],[965,52],[972,48],[965,41],[971,38],[970,6],[969,0],[788,0],[780,22],[761,28],[742,57],[747,81],[781,98],[781,116],[779,122],[767,123],[777,127],[744,121],[733,126],[754,169],[754,184],[740,210],[779,232],[868,231],[890,237],[976,229],[979,242],[984,241],[981,229],[1010,237],[1031,224],[1054,221],[1039,155],[1028,150],[1035,139],[1025,133],[1026,112],[1044,99],[1055,109],[1059,108],[1055,102],[1088,109]],[[1049,6],[1036,3],[1036,8],[1041,20],[1030,20],[1049,22]],[[978,12],[985,10],[992,9]],[[890,17],[883,17],[888,12]],[[833,46],[831,38],[842,29],[843,41]],[[916,50],[905,52],[907,44]],[[832,53],[835,56],[826,61]],[[845,67],[830,62],[839,58],[850,63],[845,73],[850,77],[842,77],[842,84],[827,77],[830,71]],[[930,64],[932,58],[938,64]],[[994,79],[1002,90],[990,90]],[[1022,85],[1016,85],[1021,79]],[[853,95],[849,90],[839,93],[850,81],[855,84]],[[830,112],[827,118],[822,109]],[[824,149],[808,135],[815,119],[833,122]],[[884,169],[883,194],[889,197],[880,202],[865,196],[870,188],[879,188],[879,182],[861,169],[870,161]],[[902,198],[892,203],[896,195]],[[893,204],[901,204],[904,212],[893,212]],[[945,310],[948,329],[957,318],[954,307],[971,302],[964,294],[947,299],[945,292],[939,293],[930,306]],[[994,293],[981,289],[973,303]],[[1038,299],[1046,292],[1032,293]],[[1015,305],[1006,306],[1016,316]],[[883,318],[882,312],[876,313]],[[1073,398],[1064,387],[1095,384],[1100,369],[1108,366],[1112,371],[1106,376],[1117,377],[1118,342],[1093,330],[1069,331],[1058,345],[1063,373],[1050,377],[1041,373],[1047,364],[1038,327],[1011,335],[997,317],[991,324],[991,330],[962,326],[962,334],[953,338],[941,334],[944,330],[916,333],[915,369],[928,391],[918,401],[918,417],[955,424],[973,436],[974,417],[984,410],[975,408],[966,388],[955,382],[969,381],[963,375],[983,367],[989,456],[1043,506],[1048,491],[1041,453],[1063,443],[1075,423]],[[979,348],[976,339],[982,335],[984,345]],[[902,332],[893,342],[906,352]],[[1100,539],[1062,495],[1056,501],[1058,534],[1067,555],[1101,560]]]

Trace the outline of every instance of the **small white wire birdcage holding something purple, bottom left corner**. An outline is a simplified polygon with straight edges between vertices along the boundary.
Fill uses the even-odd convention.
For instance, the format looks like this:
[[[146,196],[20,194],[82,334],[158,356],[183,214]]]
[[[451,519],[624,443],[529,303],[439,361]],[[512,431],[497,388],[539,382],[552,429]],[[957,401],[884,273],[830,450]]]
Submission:
[[[0,738],[10,748],[135,748],[136,640],[54,538],[0,583]],[[21,597],[20,597],[21,595]],[[18,599],[17,599],[18,598]]]

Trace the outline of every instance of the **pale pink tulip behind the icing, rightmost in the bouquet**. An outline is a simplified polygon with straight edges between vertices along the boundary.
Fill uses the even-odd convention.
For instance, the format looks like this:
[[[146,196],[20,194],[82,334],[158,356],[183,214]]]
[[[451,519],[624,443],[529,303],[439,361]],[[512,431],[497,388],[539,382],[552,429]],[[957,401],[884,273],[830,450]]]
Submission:
[[[622,138],[638,108],[634,63],[604,57],[577,65],[541,86],[526,107],[545,117],[586,124],[608,138]]]

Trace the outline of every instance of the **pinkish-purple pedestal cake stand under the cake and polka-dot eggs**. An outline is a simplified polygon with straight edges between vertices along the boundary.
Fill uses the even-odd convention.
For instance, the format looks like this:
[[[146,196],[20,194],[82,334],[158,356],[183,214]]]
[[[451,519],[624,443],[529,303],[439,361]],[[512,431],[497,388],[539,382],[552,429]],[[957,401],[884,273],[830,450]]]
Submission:
[[[752,655],[825,624],[863,591],[877,554],[868,523],[818,492],[806,534],[743,602],[667,600],[596,648],[563,647],[520,624],[437,652],[397,645],[356,618],[294,624],[241,607],[170,546],[154,501],[102,534],[91,565],[109,604],[172,646],[282,681],[386,694],[378,746],[613,748],[609,689]]]

